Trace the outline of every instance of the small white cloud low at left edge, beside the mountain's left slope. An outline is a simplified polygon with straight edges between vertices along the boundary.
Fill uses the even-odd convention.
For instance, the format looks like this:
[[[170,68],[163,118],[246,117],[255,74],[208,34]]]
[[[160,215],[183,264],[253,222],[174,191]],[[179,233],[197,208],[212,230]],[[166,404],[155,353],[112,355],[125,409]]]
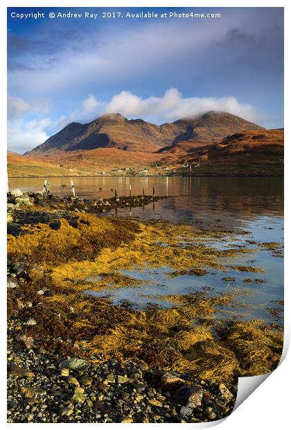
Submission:
[[[51,121],[48,118],[39,121],[34,119],[28,122],[24,122],[21,119],[8,121],[8,148],[23,153],[44,143],[49,137],[45,132],[45,128],[50,123]]]

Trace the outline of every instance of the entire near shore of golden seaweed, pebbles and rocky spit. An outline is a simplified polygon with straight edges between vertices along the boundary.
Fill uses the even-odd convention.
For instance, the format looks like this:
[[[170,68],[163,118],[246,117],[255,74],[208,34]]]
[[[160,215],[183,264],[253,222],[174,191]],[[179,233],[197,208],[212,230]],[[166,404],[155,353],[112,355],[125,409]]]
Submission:
[[[203,276],[245,252],[206,245],[223,231],[95,215],[159,198],[8,193],[8,422],[219,420],[238,375],[276,367],[279,327],[211,317],[231,294],[134,310],[88,293],[139,286],[132,264]]]

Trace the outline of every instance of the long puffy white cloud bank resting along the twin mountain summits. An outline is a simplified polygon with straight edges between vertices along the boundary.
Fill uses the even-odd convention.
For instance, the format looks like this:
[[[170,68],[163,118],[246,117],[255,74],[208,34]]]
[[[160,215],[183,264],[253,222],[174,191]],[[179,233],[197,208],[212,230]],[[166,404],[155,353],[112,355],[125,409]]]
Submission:
[[[148,98],[121,91],[112,96],[107,103],[98,102],[90,95],[69,117],[61,117],[58,128],[72,121],[89,122],[105,113],[118,113],[129,119],[141,117],[147,121],[162,123],[191,117],[209,110],[222,110],[255,122],[261,121],[264,117],[252,105],[240,103],[234,96],[184,98],[177,88],[170,88],[164,96]]]

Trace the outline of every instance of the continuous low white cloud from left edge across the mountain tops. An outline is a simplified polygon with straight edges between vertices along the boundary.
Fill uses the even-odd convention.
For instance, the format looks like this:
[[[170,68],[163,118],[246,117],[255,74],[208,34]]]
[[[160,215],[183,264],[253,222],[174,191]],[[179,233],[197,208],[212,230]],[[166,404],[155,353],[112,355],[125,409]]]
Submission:
[[[191,117],[209,110],[226,111],[243,117],[248,121],[261,122],[263,112],[258,112],[252,105],[240,103],[234,96],[183,97],[177,88],[167,89],[163,96],[142,98],[132,92],[121,91],[105,102],[90,94],[79,107],[67,117],[52,121],[47,116],[24,121],[28,112],[41,114],[38,103],[26,103],[20,98],[9,98],[8,144],[11,150],[30,150],[42,144],[48,137],[71,122],[89,123],[102,114],[120,113],[129,119],[142,117],[145,121],[166,123],[183,117]],[[46,113],[43,110],[43,114]]]

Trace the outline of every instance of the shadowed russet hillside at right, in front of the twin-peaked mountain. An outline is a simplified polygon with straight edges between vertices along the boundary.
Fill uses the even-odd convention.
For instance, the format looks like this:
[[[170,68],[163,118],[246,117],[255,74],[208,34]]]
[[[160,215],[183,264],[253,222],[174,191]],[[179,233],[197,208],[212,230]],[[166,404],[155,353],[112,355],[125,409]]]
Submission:
[[[217,144],[181,142],[171,154],[176,162],[199,166],[195,175],[283,175],[284,130],[234,133]]]

